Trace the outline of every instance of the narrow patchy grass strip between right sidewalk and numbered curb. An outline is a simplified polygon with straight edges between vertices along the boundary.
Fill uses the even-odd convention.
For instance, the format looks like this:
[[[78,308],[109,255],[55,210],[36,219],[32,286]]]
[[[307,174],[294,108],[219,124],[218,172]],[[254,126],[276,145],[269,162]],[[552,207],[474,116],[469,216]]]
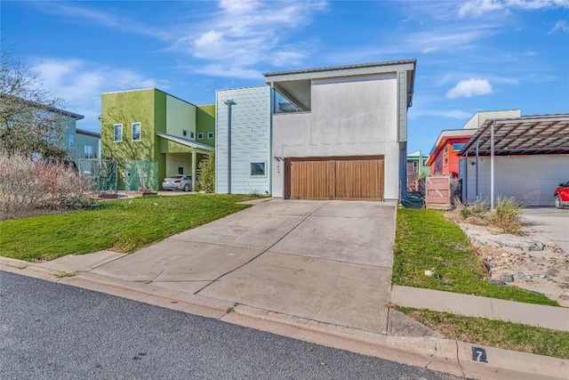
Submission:
[[[569,332],[442,311],[397,307],[445,338],[569,360]]]

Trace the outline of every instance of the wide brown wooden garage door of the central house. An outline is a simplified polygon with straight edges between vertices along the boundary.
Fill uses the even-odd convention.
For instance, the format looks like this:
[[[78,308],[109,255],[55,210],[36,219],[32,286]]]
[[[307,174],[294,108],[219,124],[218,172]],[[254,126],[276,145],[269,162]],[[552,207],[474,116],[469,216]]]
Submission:
[[[287,158],[285,197],[290,199],[383,198],[383,158]]]

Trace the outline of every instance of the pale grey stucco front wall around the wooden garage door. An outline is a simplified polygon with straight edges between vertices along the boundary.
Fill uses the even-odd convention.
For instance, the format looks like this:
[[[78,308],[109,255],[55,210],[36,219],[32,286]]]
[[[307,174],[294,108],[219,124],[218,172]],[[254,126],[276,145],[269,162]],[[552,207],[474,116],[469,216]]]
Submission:
[[[385,157],[384,198],[399,196],[395,74],[312,81],[312,109],[273,116],[278,158]],[[273,158],[273,197],[284,197],[284,163]]]

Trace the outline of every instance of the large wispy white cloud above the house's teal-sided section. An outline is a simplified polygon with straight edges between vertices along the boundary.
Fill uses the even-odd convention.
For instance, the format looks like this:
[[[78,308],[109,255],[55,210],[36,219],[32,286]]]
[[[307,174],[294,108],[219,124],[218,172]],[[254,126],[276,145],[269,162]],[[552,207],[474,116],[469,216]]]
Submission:
[[[171,50],[209,61],[193,72],[212,76],[251,78],[259,64],[300,64],[312,50],[308,40],[286,43],[289,33],[308,25],[325,2],[232,1],[219,3],[219,12],[191,24],[172,43]],[[277,9],[276,9],[277,7]]]

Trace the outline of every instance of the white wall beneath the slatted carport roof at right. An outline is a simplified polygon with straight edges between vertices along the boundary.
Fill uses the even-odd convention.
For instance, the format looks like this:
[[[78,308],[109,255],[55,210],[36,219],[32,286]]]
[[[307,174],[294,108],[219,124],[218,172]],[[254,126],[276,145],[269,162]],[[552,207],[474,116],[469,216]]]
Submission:
[[[468,202],[477,196],[490,199],[490,158],[478,158],[478,194],[476,191],[476,165],[467,162],[466,186],[463,180],[463,197]],[[461,160],[464,164],[465,158]],[[461,177],[464,165],[461,165]],[[569,181],[569,155],[509,156],[494,158],[494,202],[499,196],[514,197],[526,206],[553,206],[553,191],[560,182]]]

